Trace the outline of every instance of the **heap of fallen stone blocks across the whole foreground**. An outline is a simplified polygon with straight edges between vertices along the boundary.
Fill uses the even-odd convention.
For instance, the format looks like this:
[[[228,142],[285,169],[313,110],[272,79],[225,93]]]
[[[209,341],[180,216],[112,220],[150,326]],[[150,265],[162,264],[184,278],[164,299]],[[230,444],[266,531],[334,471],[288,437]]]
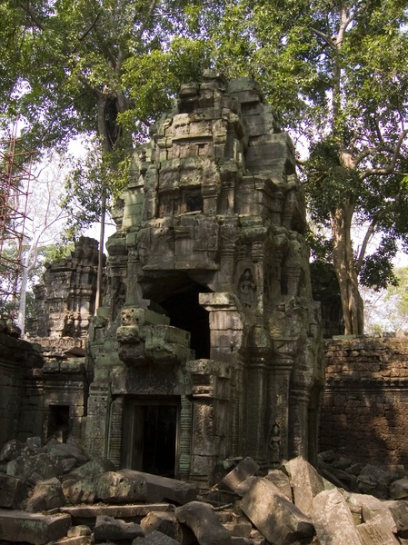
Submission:
[[[331,452],[320,455],[320,464],[332,481],[345,481],[339,471],[353,475],[353,490],[334,486],[302,457],[264,476],[245,458],[211,490],[198,490],[189,482],[117,471],[111,461],[89,458],[72,438],[45,446],[39,438],[9,441],[0,452],[0,543],[408,543],[403,467],[354,474],[351,462],[344,467]],[[373,494],[362,493],[374,479]]]

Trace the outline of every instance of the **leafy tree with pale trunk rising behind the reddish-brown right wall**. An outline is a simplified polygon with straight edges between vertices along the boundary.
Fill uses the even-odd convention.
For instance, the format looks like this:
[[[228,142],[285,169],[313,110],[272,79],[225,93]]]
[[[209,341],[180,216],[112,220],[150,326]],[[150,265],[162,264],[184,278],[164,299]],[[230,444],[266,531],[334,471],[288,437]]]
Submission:
[[[307,138],[305,190],[313,221],[331,229],[346,333],[363,332],[359,280],[393,281],[396,241],[408,240],[406,23],[399,0],[242,0],[214,36],[216,64],[253,74],[284,126]],[[353,222],[367,227],[357,253]]]

